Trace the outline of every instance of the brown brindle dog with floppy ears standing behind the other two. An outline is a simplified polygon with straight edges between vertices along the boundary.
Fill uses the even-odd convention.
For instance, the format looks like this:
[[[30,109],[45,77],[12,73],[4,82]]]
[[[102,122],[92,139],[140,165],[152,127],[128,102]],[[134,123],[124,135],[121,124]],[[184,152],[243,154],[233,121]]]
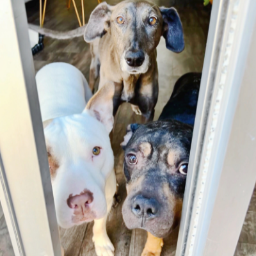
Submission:
[[[114,114],[127,101],[146,121],[153,119],[158,97],[156,47],[161,36],[170,51],[183,51],[182,24],[174,8],[126,0],[115,6],[101,3],[93,10],[84,32],[92,52],[90,88],[99,73],[99,88],[106,81],[115,82]]]

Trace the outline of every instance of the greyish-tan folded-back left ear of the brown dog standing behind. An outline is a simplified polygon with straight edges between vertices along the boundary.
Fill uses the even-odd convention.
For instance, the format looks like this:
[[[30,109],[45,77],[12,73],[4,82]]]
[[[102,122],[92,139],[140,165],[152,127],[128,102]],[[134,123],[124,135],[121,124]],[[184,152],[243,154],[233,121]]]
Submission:
[[[84,41],[92,42],[97,37],[102,37],[110,26],[110,16],[113,6],[106,2],[100,3],[91,13],[84,31]]]

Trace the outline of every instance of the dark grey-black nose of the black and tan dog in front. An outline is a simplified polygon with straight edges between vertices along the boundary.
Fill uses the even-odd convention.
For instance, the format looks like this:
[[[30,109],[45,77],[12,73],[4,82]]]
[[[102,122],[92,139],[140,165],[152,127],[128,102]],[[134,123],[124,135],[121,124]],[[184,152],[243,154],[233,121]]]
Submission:
[[[132,202],[132,212],[137,218],[154,218],[159,210],[159,204],[154,198],[138,195]]]

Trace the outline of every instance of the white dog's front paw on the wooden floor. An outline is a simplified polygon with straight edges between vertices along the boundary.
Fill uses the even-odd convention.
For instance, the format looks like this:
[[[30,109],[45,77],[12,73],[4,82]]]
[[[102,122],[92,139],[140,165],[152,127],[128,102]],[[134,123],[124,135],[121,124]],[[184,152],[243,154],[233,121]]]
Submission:
[[[93,236],[92,241],[94,243],[97,256],[114,256],[115,248],[107,234]]]

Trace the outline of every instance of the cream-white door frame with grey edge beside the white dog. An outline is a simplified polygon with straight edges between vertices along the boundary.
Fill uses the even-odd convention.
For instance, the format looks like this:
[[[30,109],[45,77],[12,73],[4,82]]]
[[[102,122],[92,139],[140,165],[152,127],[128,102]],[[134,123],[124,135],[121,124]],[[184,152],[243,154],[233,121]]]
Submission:
[[[60,256],[23,0],[0,8],[0,200],[15,255]]]

